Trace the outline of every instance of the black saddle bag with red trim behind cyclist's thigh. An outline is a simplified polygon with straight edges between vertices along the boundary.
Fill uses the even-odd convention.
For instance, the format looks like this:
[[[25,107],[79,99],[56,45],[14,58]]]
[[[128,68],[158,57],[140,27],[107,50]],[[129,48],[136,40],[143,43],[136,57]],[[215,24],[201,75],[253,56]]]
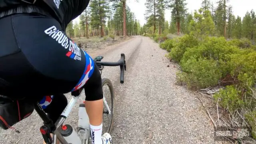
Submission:
[[[12,100],[0,96],[0,127],[4,130],[27,118],[34,111],[34,105],[26,98]]]

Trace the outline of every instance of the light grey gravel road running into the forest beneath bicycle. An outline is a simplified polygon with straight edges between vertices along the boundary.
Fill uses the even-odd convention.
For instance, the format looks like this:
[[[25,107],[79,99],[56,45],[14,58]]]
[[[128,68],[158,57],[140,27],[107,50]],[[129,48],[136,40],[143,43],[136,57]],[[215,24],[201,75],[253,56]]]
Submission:
[[[102,52],[99,52],[100,54]],[[116,90],[113,144],[212,144],[213,126],[200,101],[182,86],[175,85],[177,68],[165,58],[167,53],[147,37],[112,46],[104,61],[117,61],[126,55],[125,82],[119,82],[119,67],[105,67],[102,77],[109,78]],[[167,67],[169,65],[169,67]],[[70,98],[70,93],[66,94]],[[81,98],[82,101],[82,98]],[[78,106],[65,123],[76,127]],[[42,144],[38,114],[0,129],[0,144]]]

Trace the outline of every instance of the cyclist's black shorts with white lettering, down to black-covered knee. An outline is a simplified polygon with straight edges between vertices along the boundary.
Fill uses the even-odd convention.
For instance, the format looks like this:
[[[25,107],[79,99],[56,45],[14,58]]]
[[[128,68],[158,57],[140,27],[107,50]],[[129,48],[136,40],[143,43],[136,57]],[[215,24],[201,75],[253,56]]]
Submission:
[[[86,100],[103,98],[101,75],[57,20],[40,14],[0,19],[0,95],[31,97],[85,89]]]

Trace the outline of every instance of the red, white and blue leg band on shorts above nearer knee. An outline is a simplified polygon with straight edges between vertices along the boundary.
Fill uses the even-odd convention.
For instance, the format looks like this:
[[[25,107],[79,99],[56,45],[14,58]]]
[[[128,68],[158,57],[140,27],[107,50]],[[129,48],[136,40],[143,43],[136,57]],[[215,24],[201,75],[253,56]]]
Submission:
[[[83,73],[82,77],[80,78],[78,84],[73,88],[72,91],[76,91],[76,90],[80,89],[82,86],[84,86],[84,84],[86,84],[86,82],[92,76],[92,73],[94,71],[94,61],[86,52],[84,52],[84,55],[85,55],[85,59],[86,59],[84,73]]]

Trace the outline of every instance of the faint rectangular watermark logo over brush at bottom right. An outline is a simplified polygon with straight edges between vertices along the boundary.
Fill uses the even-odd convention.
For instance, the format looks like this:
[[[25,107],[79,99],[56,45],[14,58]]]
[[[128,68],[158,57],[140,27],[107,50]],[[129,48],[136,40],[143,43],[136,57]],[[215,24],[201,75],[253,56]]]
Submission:
[[[228,140],[241,140],[246,141],[251,139],[251,127],[217,127],[214,131],[214,140],[228,141]]]

